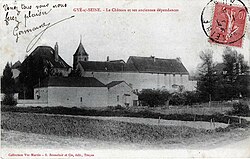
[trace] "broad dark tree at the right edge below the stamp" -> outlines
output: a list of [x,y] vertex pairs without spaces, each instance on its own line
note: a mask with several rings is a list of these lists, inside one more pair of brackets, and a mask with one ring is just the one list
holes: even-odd
[[227,47],[223,51],[223,85],[225,98],[238,98],[248,94],[248,82],[246,73],[249,69],[247,62],[244,61],[244,56],[236,50]]

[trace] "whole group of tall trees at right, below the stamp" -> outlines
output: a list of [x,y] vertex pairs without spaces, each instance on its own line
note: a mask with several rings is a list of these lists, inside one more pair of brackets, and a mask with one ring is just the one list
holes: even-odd
[[197,90],[203,101],[230,100],[249,97],[249,69],[244,56],[227,47],[222,55],[222,70],[216,69],[213,51],[201,52],[202,64],[199,67]]

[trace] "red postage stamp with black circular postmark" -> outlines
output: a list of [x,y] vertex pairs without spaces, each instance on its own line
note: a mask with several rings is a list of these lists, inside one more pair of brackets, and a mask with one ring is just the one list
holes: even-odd
[[241,47],[246,14],[244,7],[223,3],[215,4],[210,42]]

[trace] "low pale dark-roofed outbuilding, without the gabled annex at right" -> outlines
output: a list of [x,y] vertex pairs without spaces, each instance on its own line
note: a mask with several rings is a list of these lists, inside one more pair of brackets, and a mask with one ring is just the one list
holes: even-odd
[[34,88],[34,99],[48,106],[104,107],[108,89],[93,77],[50,77]]

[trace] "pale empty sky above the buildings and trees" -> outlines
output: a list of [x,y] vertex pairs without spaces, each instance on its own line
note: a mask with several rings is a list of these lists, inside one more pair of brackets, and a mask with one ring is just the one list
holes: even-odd
[[[243,0],[246,6],[249,1]],[[214,51],[214,60],[221,62],[221,55],[225,45],[208,42],[208,38],[201,27],[201,11],[208,0],[120,0],[120,1],[2,1],[0,10],[0,71],[7,62],[21,62],[25,55],[29,55],[37,46],[45,45],[54,47],[59,45],[59,55],[72,66],[73,54],[80,40],[89,54],[89,60],[104,61],[107,56],[110,60],[127,60],[129,56],[155,56],[157,58],[180,57],[189,72],[196,70],[201,62],[199,54],[201,51],[211,49]],[[17,6],[20,11],[6,10],[6,4]],[[47,5],[48,4],[48,5]],[[66,4],[66,7],[53,8],[53,5]],[[37,9],[39,5],[48,6]],[[25,6],[25,7],[24,7]],[[31,9],[28,9],[31,6]],[[61,5],[65,6],[65,5]],[[76,8],[100,8],[101,12],[75,12]],[[115,8],[116,11],[106,10]],[[178,9],[177,12],[118,12],[117,9]],[[51,10],[50,10],[51,9]],[[46,15],[26,18],[31,13],[48,12]],[[31,40],[43,29],[38,28],[27,34],[20,35],[16,42],[17,26],[15,20],[6,24],[6,13],[8,16],[16,17],[20,22],[18,30],[53,24],[64,18],[74,16],[63,22],[49,27],[42,34],[34,47],[26,52]],[[249,21],[247,21],[249,25]],[[249,61],[250,53],[250,31],[245,28],[246,36],[243,38],[241,48],[234,47]]]

